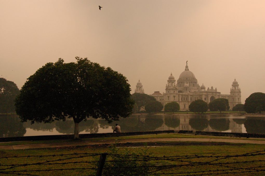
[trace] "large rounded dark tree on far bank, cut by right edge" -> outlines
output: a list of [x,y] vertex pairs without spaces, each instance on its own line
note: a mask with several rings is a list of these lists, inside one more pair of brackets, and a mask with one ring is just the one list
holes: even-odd
[[265,93],[255,92],[252,93],[245,101],[244,109],[247,113],[255,113],[257,107],[259,111],[265,111]]

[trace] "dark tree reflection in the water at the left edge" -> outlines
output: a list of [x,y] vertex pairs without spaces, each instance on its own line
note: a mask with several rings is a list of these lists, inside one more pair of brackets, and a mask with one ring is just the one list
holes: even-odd
[[0,137],[24,136],[25,133],[17,115],[0,115]]

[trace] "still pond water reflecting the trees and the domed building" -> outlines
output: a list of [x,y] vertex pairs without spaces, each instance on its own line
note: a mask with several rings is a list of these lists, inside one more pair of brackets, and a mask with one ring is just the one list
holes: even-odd
[[[149,130],[197,130],[211,132],[265,133],[265,118],[205,114],[141,114],[131,115],[108,124],[102,119],[89,119],[79,124],[80,134],[111,133],[118,123],[122,132]],[[50,124],[21,123],[17,115],[0,115],[0,137],[73,134],[74,122],[54,121]]]

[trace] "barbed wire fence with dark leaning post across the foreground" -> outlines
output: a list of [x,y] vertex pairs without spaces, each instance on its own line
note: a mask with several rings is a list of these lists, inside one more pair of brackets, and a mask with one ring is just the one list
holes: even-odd
[[[146,153],[145,153],[146,154]],[[72,153],[0,157],[0,175],[265,174],[265,150],[240,155]]]

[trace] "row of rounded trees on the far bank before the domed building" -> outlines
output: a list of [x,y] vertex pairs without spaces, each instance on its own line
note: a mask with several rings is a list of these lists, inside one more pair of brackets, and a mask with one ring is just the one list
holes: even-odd
[[[143,93],[134,93],[132,94],[132,98],[135,101],[134,104],[134,113],[146,111],[146,112],[161,112],[163,106],[160,102],[158,102],[154,97],[143,94]],[[189,111],[194,113],[204,113],[206,111],[227,111],[230,109],[229,102],[226,98],[217,98],[207,104],[203,100],[195,100],[190,103]],[[180,110],[179,103],[170,102],[164,106],[164,112],[178,112]],[[245,101],[245,104],[237,104],[232,108],[232,111],[246,111],[247,113],[261,113],[265,111],[265,94],[261,92],[256,92],[251,94]]]

